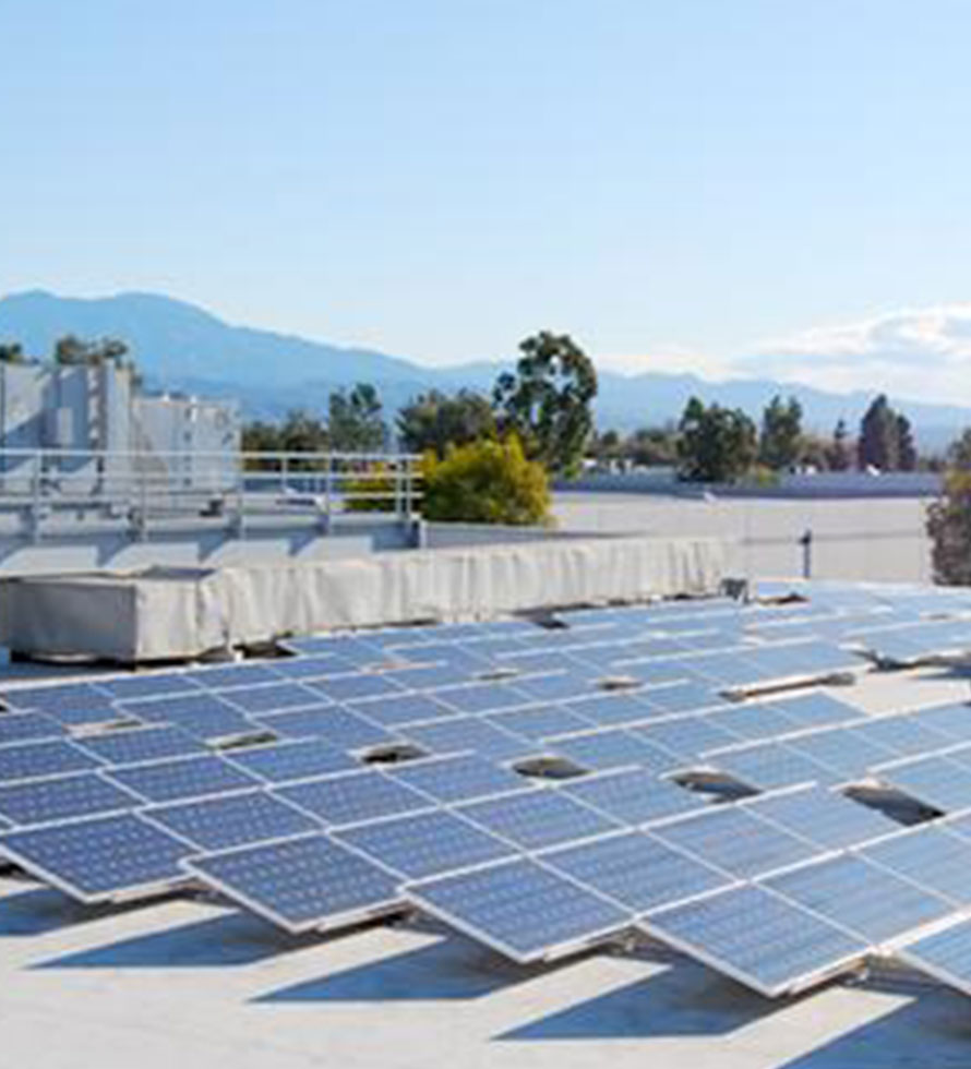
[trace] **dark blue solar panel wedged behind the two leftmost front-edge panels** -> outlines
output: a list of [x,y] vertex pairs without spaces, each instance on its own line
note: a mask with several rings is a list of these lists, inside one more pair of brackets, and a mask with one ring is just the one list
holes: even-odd
[[291,839],[320,825],[264,791],[145,809],[144,815],[204,851],[230,850],[271,839]]

